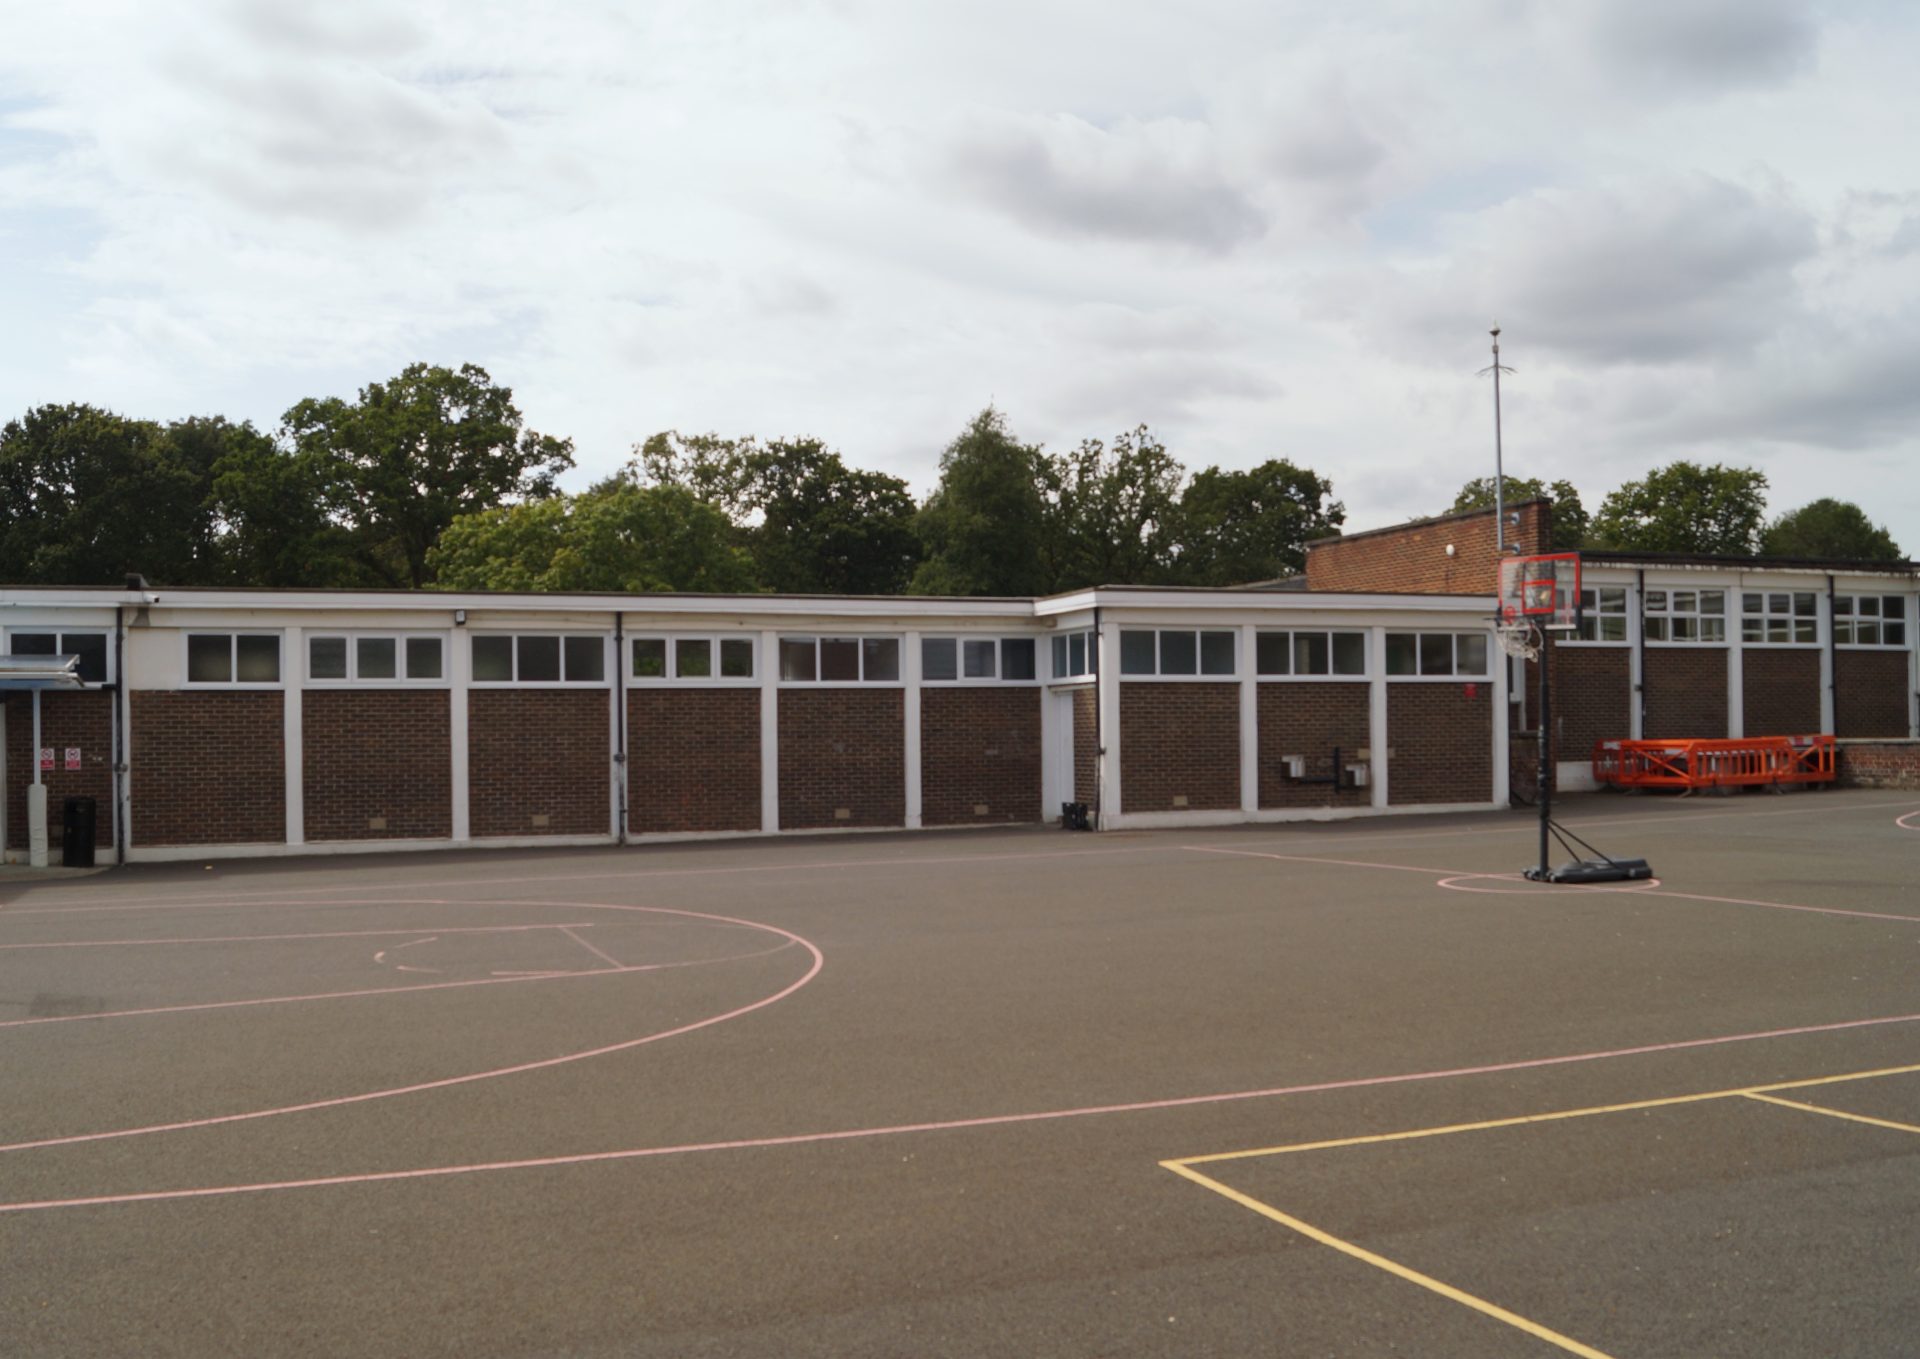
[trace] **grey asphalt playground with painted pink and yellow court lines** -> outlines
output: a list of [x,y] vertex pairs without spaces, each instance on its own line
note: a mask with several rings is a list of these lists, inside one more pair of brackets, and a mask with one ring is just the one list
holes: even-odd
[[1920,795],[0,885],[4,1355],[1901,1355]]

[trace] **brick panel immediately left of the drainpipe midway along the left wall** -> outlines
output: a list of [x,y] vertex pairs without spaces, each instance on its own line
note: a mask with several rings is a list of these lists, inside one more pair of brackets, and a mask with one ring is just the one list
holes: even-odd
[[[612,733],[607,689],[472,689],[467,818],[482,835],[607,835]],[[547,818],[545,825],[534,822]]]

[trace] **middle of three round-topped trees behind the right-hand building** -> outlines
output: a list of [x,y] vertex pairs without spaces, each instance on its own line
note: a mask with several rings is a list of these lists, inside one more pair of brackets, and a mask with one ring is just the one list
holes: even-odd
[[1594,516],[1596,547],[1747,557],[1766,516],[1766,474],[1749,466],[1668,463],[1609,493]]

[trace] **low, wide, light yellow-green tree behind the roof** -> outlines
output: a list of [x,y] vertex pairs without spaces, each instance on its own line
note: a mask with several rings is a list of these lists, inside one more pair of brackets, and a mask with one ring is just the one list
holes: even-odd
[[440,589],[747,593],[753,564],[716,507],[680,486],[611,480],[461,514],[428,553]]

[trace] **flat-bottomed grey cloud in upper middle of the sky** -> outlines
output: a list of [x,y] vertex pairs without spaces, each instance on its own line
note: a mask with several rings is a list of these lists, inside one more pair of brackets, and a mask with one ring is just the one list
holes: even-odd
[[977,125],[947,155],[968,194],[1052,236],[1104,236],[1225,253],[1265,230],[1217,167],[1204,123],[1077,117]]

